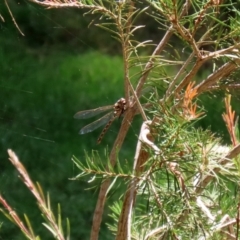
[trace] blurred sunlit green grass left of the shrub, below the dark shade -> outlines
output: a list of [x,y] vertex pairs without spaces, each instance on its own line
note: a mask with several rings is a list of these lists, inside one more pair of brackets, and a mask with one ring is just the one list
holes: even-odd
[[[93,120],[75,120],[73,115],[79,110],[113,104],[123,96],[121,59],[98,52],[80,55],[53,50],[45,55],[34,51],[26,54],[20,48],[11,54],[2,51],[0,64],[1,193],[20,215],[26,213],[32,219],[42,239],[51,239],[41,226],[43,220],[35,200],[7,160],[6,150],[11,148],[32,179],[49,191],[53,209],[61,204],[63,217],[71,222],[72,238],[87,239],[97,192],[85,191],[89,185],[84,179],[69,180],[78,173],[71,157],[74,154],[84,160],[84,150],[92,149],[104,153],[106,144],[111,147],[121,121],[116,121],[102,144],[96,145],[101,128],[79,135],[80,128]],[[127,143],[133,147],[134,134],[133,130]],[[131,148],[124,156],[127,158],[130,152]],[[1,215],[3,220],[3,239],[23,239]]]

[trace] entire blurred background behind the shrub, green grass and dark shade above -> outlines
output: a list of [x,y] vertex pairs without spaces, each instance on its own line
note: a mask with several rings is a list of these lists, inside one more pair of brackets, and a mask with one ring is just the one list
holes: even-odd
[[[104,156],[121,121],[114,122],[102,143],[96,145],[102,129],[78,135],[80,128],[94,119],[75,120],[73,115],[79,110],[113,104],[123,96],[122,60],[115,51],[119,46],[108,34],[87,28],[90,18],[83,18],[81,11],[46,11],[26,2],[9,3],[26,36],[19,35],[3,4],[0,5],[6,20],[0,29],[1,194],[20,216],[29,216],[42,239],[52,239],[41,224],[43,219],[35,199],[7,160],[6,150],[11,148],[33,181],[50,193],[55,212],[57,203],[61,204],[63,218],[68,217],[71,222],[72,239],[88,239],[98,192],[85,190],[92,186],[87,183],[89,179],[69,180],[78,174],[71,157],[75,155],[84,161],[85,150],[98,150]],[[151,34],[154,31],[146,36]],[[112,54],[103,54],[106,52]],[[210,97],[202,100],[209,115],[201,125],[212,125],[214,131],[226,137],[220,117],[223,101]],[[123,162],[131,164],[139,125],[140,117],[136,117],[121,152]],[[113,194],[110,201],[115,197]],[[109,220],[107,214],[108,211],[105,221]],[[0,222],[4,222],[0,239],[23,239],[3,215]],[[112,239],[104,224],[100,239]]]

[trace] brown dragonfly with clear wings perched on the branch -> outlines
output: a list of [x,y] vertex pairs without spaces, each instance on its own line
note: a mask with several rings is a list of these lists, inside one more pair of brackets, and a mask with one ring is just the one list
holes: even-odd
[[105,114],[103,117],[99,118],[98,120],[86,125],[83,127],[79,134],[85,134],[94,131],[95,129],[99,128],[100,126],[105,124],[100,136],[97,139],[97,143],[101,143],[102,138],[104,137],[105,133],[113,123],[116,118],[119,118],[124,114],[127,110],[127,101],[124,98],[120,98],[114,105],[103,106],[95,109],[85,110],[77,112],[74,115],[76,119],[87,119],[94,117],[100,113],[106,112],[108,110],[112,110],[109,113]]

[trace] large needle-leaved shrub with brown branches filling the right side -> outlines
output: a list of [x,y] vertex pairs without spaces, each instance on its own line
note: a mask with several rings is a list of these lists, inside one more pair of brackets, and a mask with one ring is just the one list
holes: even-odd
[[[126,105],[115,105],[114,117],[124,117],[118,136],[104,157],[97,152],[73,157],[80,170],[76,179],[89,175],[89,182],[101,183],[90,239],[99,237],[111,191],[118,200],[110,206],[114,224],[108,226],[117,240],[238,239],[240,144],[230,98],[223,119],[231,146],[196,123],[210,114],[204,113],[201,95],[240,87],[239,3],[29,1],[100,16],[96,26],[121,48]],[[141,22],[145,16],[154,24]],[[159,33],[158,41],[139,34],[149,27]],[[136,114],[142,127],[131,149],[134,158],[124,159],[123,144]]]

